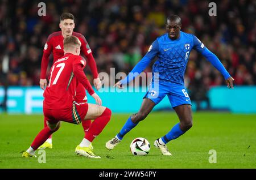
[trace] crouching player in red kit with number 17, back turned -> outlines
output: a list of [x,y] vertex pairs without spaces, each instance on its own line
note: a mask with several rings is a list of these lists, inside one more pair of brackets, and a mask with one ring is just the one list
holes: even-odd
[[[82,142],[77,145],[75,152],[89,158],[100,158],[90,147],[93,139],[100,134],[111,117],[111,111],[101,106],[101,99],[93,91],[84,74],[85,59],[80,54],[81,42],[75,36],[68,36],[64,40],[65,55],[51,68],[49,85],[44,91],[43,112],[47,126],[36,136],[30,148],[23,153],[23,157],[35,156],[36,149],[60,127],[60,121],[80,124],[86,119],[95,119]],[[80,83],[96,100],[97,104],[76,103],[75,94],[77,84]]]

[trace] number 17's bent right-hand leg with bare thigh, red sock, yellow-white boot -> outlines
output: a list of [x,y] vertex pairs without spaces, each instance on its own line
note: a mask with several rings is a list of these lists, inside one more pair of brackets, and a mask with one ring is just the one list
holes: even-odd
[[96,104],[88,104],[88,112],[85,115],[86,119],[95,119],[90,125],[88,132],[86,132],[82,142],[77,145],[75,152],[78,155],[89,157],[89,158],[101,158],[93,153],[93,149],[90,147],[94,138],[98,136],[104,127],[108,124],[111,117],[111,110],[103,106]]

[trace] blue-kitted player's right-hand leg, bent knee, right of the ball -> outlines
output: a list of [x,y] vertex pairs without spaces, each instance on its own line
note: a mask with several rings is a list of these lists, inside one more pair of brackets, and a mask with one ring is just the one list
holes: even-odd
[[184,104],[176,106],[174,109],[180,119],[180,122],[172,127],[170,132],[168,132],[162,138],[156,139],[154,142],[155,147],[160,149],[162,154],[166,156],[171,156],[166,144],[173,139],[179,138],[179,136],[183,135],[187,130],[189,130],[189,128],[192,127],[191,105]]

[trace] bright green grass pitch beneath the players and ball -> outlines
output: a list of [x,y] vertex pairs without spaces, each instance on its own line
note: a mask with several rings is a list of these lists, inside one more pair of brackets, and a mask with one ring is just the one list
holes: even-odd
[[[101,159],[75,155],[75,147],[84,137],[82,126],[62,122],[53,134],[53,149],[46,149],[46,163],[39,163],[38,158],[23,158],[21,152],[42,129],[43,115],[1,114],[0,168],[256,168],[256,115],[193,113],[193,127],[168,143],[173,156],[167,157],[153,143],[178,122],[175,113],[151,113],[115,149],[105,148],[106,141],[119,132],[129,115],[113,114],[94,140],[94,152]],[[130,153],[130,142],[137,137],[150,142],[147,156]],[[210,149],[217,153],[216,163],[209,163]]]

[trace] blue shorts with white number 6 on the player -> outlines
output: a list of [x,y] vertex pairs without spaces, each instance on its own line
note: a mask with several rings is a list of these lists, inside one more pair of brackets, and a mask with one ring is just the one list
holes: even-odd
[[169,98],[172,108],[183,104],[191,105],[187,89],[184,85],[168,82],[151,82],[150,87],[143,98],[149,98],[155,102],[155,105],[157,105],[164,97],[166,97],[166,95]]

